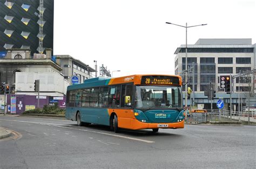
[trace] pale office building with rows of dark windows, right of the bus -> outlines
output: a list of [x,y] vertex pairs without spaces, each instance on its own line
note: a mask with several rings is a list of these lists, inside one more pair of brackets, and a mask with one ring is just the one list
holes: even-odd
[[[252,39],[199,39],[194,45],[187,45],[188,86],[192,88],[192,72],[190,68],[194,63],[194,91],[196,103],[209,103],[204,91],[208,90],[208,84],[212,82],[217,91],[218,98],[227,98],[229,95],[220,88],[221,75],[238,75],[255,69],[256,44]],[[185,82],[186,48],[181,45],[174,54],[175,74],[183,76]],[[253,78],[253,76],[252,76]],[[247,92],[252,90],[253,84],[248,83],[248,77],[236,78],[233,82],[234,99],[238,90]],[[250,82],[253,82],[253,80]],[[185,90],[185,87],[183,87]],[[216,100],[213,100],[215,103]],[[190,102],[190,100],[188,100]],[[235,103],[235,100],[234,102]]]

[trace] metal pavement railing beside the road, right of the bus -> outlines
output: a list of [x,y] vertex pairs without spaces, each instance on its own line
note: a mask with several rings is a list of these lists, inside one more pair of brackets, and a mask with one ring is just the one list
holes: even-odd
[[256,123],[256,112],[251,112],[248,118],[248,111],[228,111],[228,110],[207,110],[207,113],[187,113],[185,123],[198,124],[207,122],[224,121],[248,121]]

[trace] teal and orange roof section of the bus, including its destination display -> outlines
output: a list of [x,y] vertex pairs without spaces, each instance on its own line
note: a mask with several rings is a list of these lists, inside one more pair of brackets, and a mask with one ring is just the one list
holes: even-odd
[[[172,78],[172,79],[171,79]],[[175,79],[173,79],[175,78]],[[96,77],[84,80],[84,83],[75,84],[68,86],[68,90],[83,89],[86,87],[98,87],[106,85],[115,85],[115,84],[124,84],[124,83],[133,83],[134,85],[147,84],[146,79],[152,80],[156,85],[181,85],[181,77],[177,75],[131,75],[123,76],[117,78],[107,78],[107,77]],[[172,80],[176,82],[173,83]],[[178,81],[177,81],[178,80]],[[154,85],[152,84],[147,85]]]

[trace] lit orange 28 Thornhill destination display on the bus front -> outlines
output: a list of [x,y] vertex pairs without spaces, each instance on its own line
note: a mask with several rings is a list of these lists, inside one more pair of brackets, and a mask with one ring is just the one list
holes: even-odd
[[179,78],[172,76],[143,76],[141,84],[146,85],[179,85]]

